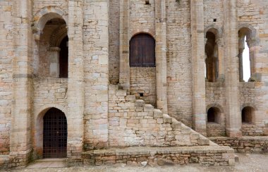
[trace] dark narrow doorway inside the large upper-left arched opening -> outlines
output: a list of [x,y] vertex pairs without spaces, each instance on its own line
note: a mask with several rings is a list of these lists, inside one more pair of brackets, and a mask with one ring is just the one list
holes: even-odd
[[68,37],[61,41],[59,53],[59,78],[68,78]]

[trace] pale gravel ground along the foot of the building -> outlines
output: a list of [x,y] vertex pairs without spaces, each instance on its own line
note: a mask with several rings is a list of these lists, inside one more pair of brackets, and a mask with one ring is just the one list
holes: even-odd
[[147,171],[147,172],[175,172],[175,171],[206,171],[206,172],[229,172],[229,171],[268,171],[268,154],[237,154],[239,162],[236,166],[200,166],[199,164],[175,165],[175,166],[126,166],[115,164],[109,166],[78,166],[71,168],[20,168],[11,171],[36,171],[36,172],[70,172],[70,171],[90,171],[90,172],[130,172],[130,171]]

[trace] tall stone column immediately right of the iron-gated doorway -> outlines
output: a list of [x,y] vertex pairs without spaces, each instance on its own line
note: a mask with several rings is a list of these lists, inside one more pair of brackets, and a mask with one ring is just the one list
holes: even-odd
[[68,2],[68,142],[69,159],[80,159],[84,135],[83,0]]

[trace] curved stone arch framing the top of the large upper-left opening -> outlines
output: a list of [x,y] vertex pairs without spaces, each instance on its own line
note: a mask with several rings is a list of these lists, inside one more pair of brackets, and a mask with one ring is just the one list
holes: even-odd
[[39,37],[42,34],[42,30],[44,29],[47,21],[53,18],[63,19],[66,25],[68,25],[68,13],[66,13],[66,11],[63,11],[63,9],[59,8],[58,6],[47,6],[35,13],[32,21],[32,31],[35,34],[36,40],[39,40]]

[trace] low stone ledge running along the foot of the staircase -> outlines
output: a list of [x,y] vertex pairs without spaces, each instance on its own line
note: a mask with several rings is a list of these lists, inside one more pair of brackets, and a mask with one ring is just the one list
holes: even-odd
[[169,164],[199,163],[206,166],[234,165],[234,150],[230,147],[126,147],[92,150],[83,153],[83,164],[141,164],[160,165],[159,159]]

